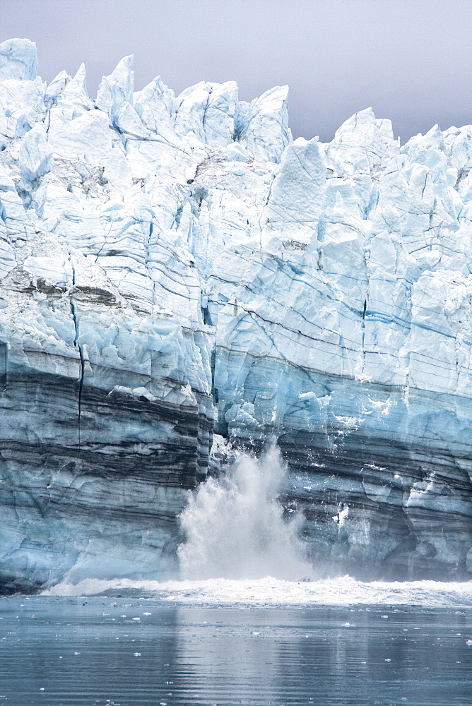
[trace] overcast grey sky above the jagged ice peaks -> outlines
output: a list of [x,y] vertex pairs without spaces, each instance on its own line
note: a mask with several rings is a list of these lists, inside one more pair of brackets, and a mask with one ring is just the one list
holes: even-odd
[[0,0],[0,41],[37,44],[40,75],[85,61],[90,95],[126,54],[135,88],[290,86],[294,136],[330,140],[372,106],[402,141],[472,123],[471,0]]

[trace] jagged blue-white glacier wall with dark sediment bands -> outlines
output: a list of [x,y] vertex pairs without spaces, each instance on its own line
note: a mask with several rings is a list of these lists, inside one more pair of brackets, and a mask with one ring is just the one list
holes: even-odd
[[169,575],[213,433],[276,439],[319,570],[472,578],[472,126],[132,66],[0,44],[0,592]]

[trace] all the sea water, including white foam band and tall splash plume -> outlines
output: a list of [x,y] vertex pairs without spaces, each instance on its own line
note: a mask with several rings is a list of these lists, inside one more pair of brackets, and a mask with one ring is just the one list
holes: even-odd
[[0,706],[471,706],[472,583],[314,580],[284,478],[200,486],[179,580],[0,599]]

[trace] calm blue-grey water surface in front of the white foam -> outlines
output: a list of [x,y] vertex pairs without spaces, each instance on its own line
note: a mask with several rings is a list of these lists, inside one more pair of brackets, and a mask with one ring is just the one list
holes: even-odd
[[0,599],[0,706],[471,706],[472,608]]

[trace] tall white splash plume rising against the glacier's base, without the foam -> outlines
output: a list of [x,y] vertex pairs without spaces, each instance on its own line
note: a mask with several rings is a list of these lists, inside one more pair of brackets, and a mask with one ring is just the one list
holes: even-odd
[[259,460],[238,454],[228,472],[208,478],[180,516],[184,579],[295,580],[312,575],[299,539],[302,517],[284,520],[278,493],[286,467],[275,446]]

